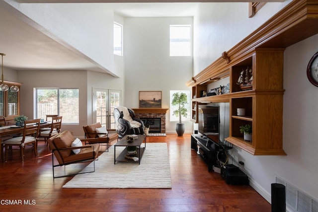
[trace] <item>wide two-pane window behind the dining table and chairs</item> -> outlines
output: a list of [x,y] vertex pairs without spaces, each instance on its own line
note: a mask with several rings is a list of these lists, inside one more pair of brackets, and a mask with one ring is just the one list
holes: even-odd
[[37,88],[36,118],[45,119],[52,114],[63,116],[63,123],[79,124],[79,89]]

